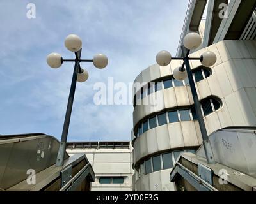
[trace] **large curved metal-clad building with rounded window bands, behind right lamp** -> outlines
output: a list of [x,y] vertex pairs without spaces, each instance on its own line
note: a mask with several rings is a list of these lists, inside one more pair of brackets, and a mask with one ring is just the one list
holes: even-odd
[[[200,57],[207,50],[217,55],[211,68],[191,61],[207,133],[256,126],[255,29],[252,32],[256,1],[209,1],[205,24],[201,24],[206,3],[189,2],[181,39],[191,31],[201,35],[204,31],[202,47],[190,57]],[[228,18],[216,19],[220,3],[228,3]],[[246,13],[241,15],[242,11]],[[181,56],[179,48],[177,56]],[[181,65],[182,61],[165,67],[154,64],[134,81],[134,191],[175,191],[170,171],[177,157],[180,152],[195,152],[202,144],[188,80],[173,78],[173,70]],[[159,103],[152,106],[148,101]]]

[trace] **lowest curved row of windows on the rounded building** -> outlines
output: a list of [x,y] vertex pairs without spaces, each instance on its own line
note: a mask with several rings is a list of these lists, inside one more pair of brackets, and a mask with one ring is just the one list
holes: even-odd
[[155,171],[173,168],[173,164],[177,161],[180,153],[183,152],[191,152],[195,154],[196,150],[179,150],[150,157],[150,159],[147,159],[140,164],[140,167],[137,170],[139,177]]

